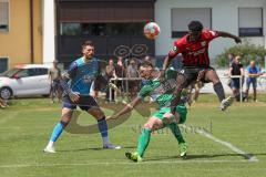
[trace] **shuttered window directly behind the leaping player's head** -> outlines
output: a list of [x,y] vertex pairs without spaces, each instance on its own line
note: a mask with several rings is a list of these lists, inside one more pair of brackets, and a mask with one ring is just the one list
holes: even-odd
[[187,33],[187,24],[198,20],[205,29],[212,29],[211,8],[174,8],[171,10],[172,38],[181,38]]

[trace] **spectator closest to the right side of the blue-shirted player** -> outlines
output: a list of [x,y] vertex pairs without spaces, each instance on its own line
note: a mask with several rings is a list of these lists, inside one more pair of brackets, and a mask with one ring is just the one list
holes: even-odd
[[[110,82],[111,79],[117,77],[115,74],[115,67],[113,63],[113,59],[109,60],[109,64],[105,67],[105,79]],[[105,101],[114,102],[114,90],[111,90],[111,100],[110,100],[110,90],[106,90]]]

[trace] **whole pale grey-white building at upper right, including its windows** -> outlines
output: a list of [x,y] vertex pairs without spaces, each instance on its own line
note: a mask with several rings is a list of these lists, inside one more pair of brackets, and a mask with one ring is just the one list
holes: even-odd
[[[174,40],[187,31],[191,20],[266,46],[266,0],[157,0],[154,11],[162,30],[155,43],[156,55],[165,55],[172,49]],[[234,44],[231,39],[214,40],[211,59]]]

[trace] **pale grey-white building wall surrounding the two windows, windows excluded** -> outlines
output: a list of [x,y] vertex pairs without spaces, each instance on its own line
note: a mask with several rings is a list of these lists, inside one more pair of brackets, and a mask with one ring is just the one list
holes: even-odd
[[[172,49],[176,39],[171,38],[171,9],[172,8],[212,8],[213,30],[226,31],[238,35],[238,8],[263,8],[263,29],[266,34],[266,1],[265,0],[157,0],[155,2],[155,20],[162,33],[155,41],[156,55],[165,55]],[[167,20],[166,20],[167,19]],[[265,46],[264,37],[247,38],[256,44]],[[231,39],[217,39],[211,43],[209,56],[222,53],[224,49],[234,45]]]

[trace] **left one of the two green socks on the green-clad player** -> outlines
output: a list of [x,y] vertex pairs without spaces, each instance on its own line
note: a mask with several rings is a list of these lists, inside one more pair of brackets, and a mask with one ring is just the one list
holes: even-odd
[[149,145],[149,142],[150,142],[150,138],[151,138],[151,133],[152,133],[151,129],[143,128],[142,134],[139,137],[139,144],[137,144],[136,152],[141,157],[143,157],[144,152],[145,152],[145,149]]

